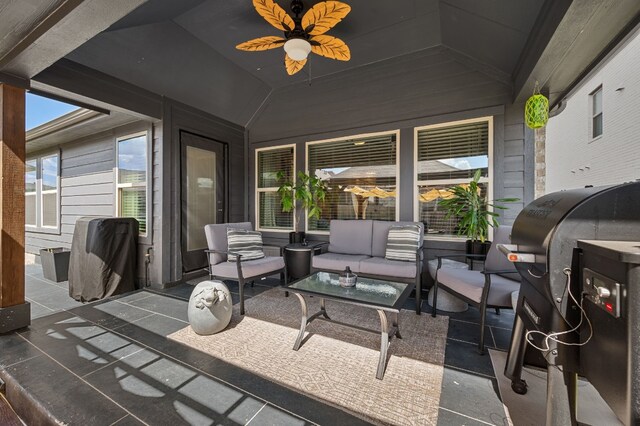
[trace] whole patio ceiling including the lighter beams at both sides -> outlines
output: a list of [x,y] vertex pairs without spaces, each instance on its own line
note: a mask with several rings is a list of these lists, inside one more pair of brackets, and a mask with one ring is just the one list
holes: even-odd
[[[348,78],[375,90],[358,75],[420,79],[402,67],[415,58],[426,66],[433,56],[435,64],[454,60],[482,73],[512,100],[540,80],[554,101],[640,16],[640,2],[626,0],[343,1],[352,11],[330,34],[349,45],[351,60],[311,55],[289,76],[282,49],[235,48],[281,35],[250,0],[7,0],[0,5],[0,81],[38,81],[65,59],[248,126],[292,88],[330,88]],[[288,0],[277,2],[289,9]],[[304,1],[306,8],[315,3]]]

